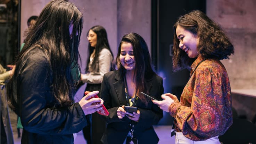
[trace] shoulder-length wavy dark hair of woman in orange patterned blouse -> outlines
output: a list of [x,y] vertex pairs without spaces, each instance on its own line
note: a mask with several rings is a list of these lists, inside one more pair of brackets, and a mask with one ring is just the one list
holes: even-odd
[[190,69],[195,58],[179,48],[176,28],[180,25],[192,34],[199,36],[198,51],[204,58],[228,59],[234,53],[234,47],[220,25],[199,10],[193,10],[181,16],[174,24],[173,38],[173,70]]

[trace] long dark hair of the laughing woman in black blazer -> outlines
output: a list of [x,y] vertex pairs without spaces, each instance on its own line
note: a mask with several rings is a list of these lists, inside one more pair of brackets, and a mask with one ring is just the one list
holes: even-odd
[[123,67],[119,59],[119,56],[121,54],[121,46],[123,43],[132,44],[135,60],[133,81],[135,81],[136,94],[138,94],[139,98],[147,104],[147,99],[140,92],[148,92],[148,90],[145,90],[144,82],[147,79],[152,78],[152,76],[156,75],[152,67],[152,62],[148,51],[147,43],[137,33],[126,34],[122,37],[122,40],[118,46],[118,52],[116,56],[117,70],[120,72],[122,76],[124,76],[126,72],[126,69]]

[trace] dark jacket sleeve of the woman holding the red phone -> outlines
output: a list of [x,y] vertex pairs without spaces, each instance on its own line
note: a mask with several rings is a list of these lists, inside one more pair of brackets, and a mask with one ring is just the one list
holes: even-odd
[[77,133],[87,124],[84,112],[78,103],[62,109],[49,107],[55,102],[49,71],[42,53],[31,54],[20,69],[17,96],[22,125],[31,133]]

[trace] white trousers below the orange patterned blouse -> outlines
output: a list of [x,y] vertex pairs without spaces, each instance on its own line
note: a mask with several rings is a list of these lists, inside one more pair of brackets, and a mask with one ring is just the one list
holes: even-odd
[[221,144],[218,136],[206,139],[205,141],[192,141],[181,132],[175,132],[175,144]]

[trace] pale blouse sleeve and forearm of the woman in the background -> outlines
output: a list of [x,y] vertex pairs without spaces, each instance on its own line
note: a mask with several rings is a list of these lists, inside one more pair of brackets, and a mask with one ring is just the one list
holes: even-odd
[[85,82],[89,84],[100,84],[103,79],[103,75],[110,71],[112,54],[107,49],[102,49],[99,55],[98,68],[99,71],[92,71],[88,74],[85,74]]

